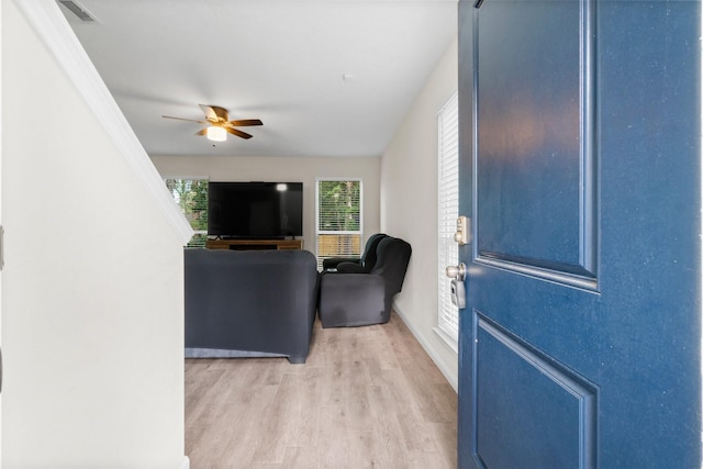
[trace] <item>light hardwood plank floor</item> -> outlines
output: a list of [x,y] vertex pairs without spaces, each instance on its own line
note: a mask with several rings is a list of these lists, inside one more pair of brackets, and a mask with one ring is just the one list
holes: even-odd
[[457,394],[403,322],[323,330],[308,361],[186,360],[203,468],[456,468]]

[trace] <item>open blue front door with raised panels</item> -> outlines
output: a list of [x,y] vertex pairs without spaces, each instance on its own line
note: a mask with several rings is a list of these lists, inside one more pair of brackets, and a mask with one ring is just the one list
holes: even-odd
[[701,467],[700,9],[460,1],[461,468]]

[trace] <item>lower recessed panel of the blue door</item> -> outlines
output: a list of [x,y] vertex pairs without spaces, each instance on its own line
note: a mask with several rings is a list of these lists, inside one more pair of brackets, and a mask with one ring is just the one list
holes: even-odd
[[486,467],[592,467],[596,389],[478,312],[475,327],[477,459]]

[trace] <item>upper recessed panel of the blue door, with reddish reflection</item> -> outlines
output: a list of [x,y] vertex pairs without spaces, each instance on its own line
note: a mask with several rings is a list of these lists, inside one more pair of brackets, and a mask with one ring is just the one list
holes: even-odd
[[580,104],[590,67],[581,72],[581,10],[568,1],[486,2],[481,9],[475,63],[479,256],[557,270],[583,267]]

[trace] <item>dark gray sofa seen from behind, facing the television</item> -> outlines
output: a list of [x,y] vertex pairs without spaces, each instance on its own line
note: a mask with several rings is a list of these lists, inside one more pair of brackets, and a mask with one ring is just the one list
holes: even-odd
[[306,250],[186,249],[186,357],[305,362],[317,269]]

